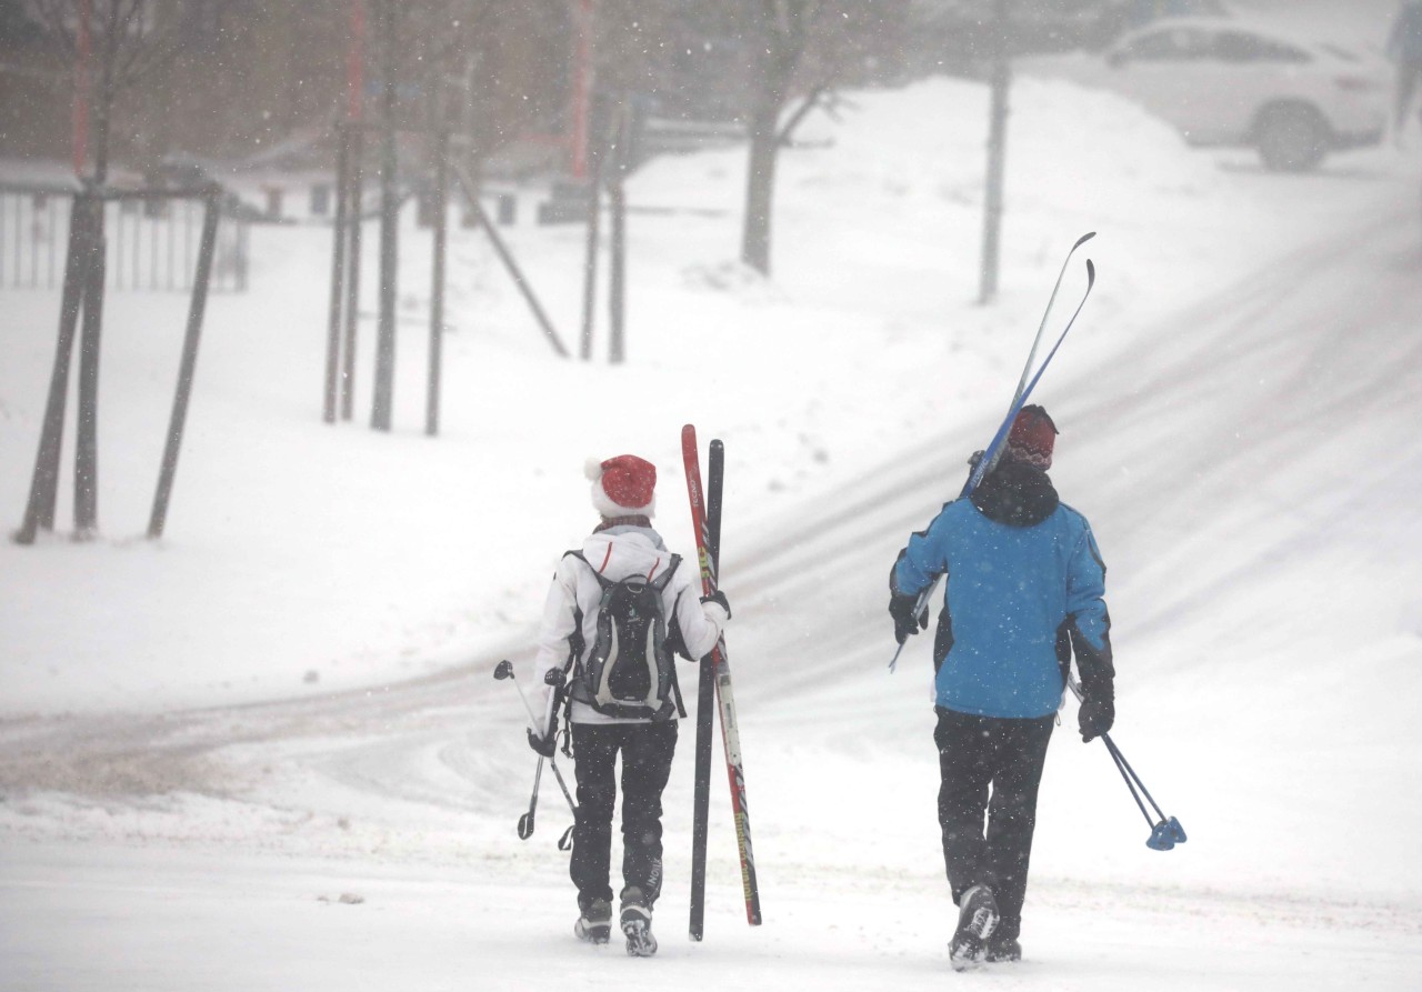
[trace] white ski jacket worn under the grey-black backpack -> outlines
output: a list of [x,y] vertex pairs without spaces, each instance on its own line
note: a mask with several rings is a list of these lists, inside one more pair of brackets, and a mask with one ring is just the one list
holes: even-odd
[[[533,659],[533,678],[543,686],[543,706],[540,713],[547,721],[547,706],[552,689],[543,679],[547,672],[562,669],[567,664],[570,637],[577,624],[577,611],[583,617],[583,657],[592,651],[597,640],[597,604],[603,590],[593,577],[592,568],[597,568],[606,578],[619,581],[627,576],[643,574],[648,580],[657,578],[671,566],[671,551],[651,527],[636,524],[620,524],[600,530],[583,541],[580,549],[587,564],[572,556],[565,556],[557,563],[557,573],[553,576],[553,587],[547,593],[547,603],[543,605],[543,624],[539,628],[538,655]],[[589,568],[592,566],[592,568]],[[729,617],[718,603],[701,603],[701,587],[698,583],[695,559],[683,560],[677,566],[675,574],[663,591],[663,611],[667,622],[675,618],[681,628],[681,640],[687,647],[687,654],[695,659],[711,652],[721,638],[721,630]],[[592,706],[573,702],[572,719],[574,723],[644,723],[644,719],[619,719],[599,713]],[[675,719],[675,713],[673,713]],[[547,728],[538,728],[545,735]]]

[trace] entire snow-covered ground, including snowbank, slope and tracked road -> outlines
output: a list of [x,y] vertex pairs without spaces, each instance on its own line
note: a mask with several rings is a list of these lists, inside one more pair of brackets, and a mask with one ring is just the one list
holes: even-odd
[[[1068,708],[1028,959],[961,981],[1415,988],[1422,163],[1376,149],[1264,175],[1118,98],[1022,81],[1003,294],[977,307],[984,115],[980,87],[930,81],[806,129],[833,141],[782,159],[769,281],[732,262],[742,152],[648,166],[617,368],[556,358],[459,232],[438,439],[419,236],[385,435],[365,426],[373,318],[357,421],[320,421],[328,237],[257,230],[252,290],[209,303],[158,544],[141,534],[185,301],[112,296],[102,537],[0,546],[0,988],[957,981],[929,649],[884,672],[883,578],[1001,416],[1086,230],[1098,286],[1039,398],[1062,426],[1054,479],[1111,564],[1115,736],[1190,841],[1143,846]],[[576,347],[582,232],[508,237]],[[1064,298],[1081,290],[1078,267]],[[57,300],[0,301],[0,513],[18,523]],[[593,523],[587,455],[654,459],[660,524],[690,546],[683,422],[727,442],[766,922],[742,922],[718,782],[708,935],[681,939],[688,725],[663,952],[630,962],[569,934],[552,783],[539,833],[513,836],[532,762],[489,675],[526,662],[549,570]]]

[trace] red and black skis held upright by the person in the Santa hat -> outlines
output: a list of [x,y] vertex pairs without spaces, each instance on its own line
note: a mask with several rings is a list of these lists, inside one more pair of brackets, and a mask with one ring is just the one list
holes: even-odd
[[[707,487],[701,487],[701,458],[697,429],[681,428],[681,459],[691,500],[691,526],[697,536],[697,561],[701,566],[701,591],[717,591],[721,563],[721,487],[725,478],[725,446],[711,442]],[[741,732],[735,719],[735,695],[731,691],[731,665],[727,661],[725,635],[701,659],[697,691],[697,769],[691,826],[691,939],[700,941],[705,922],[707,831],[711,807],[711,711],[721,713],[721,742],[725,745],[725,770],[731,782],[731,814],[735,819],[735,843],[741,856],[741,885],[745,894],[745,918],[761,924],[761,893],[751,848],[751,817],[745,803],[745,766],[741,762]]]

